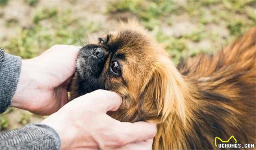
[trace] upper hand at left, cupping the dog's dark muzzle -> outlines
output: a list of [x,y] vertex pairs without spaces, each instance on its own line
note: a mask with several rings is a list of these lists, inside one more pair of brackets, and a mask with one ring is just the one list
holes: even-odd
[[11,106],[49,115],[68,101],[67,86],[75,71],[79,47],[54,45],[40,56],[22,60]]

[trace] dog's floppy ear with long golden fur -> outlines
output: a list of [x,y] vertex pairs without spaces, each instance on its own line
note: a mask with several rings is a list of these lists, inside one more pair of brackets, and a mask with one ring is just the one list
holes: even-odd
[[146,103],[153,102],[158,111],[158,116],[161,116],[161,120],[157,122],[163,122],[170,113],[175,113],[180,120],[184,121],[186,84],[182,75],[170,60],[162,59],[161,61],[155,66],[144,89],[143,95],[146,97],[146,99],[143,99],[144,110],[145,107],[150,109],[150,105]]

